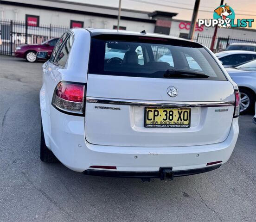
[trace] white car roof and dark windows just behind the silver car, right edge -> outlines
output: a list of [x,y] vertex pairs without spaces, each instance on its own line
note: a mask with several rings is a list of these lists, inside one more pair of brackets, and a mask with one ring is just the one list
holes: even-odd
[[230,50],[215,53],[215,56],[219,59],[224,67],[231,67],[256,59],[256,52]]

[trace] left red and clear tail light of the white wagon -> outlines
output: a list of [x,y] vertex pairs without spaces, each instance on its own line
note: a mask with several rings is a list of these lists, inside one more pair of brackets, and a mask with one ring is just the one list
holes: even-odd
[[60,111],[83,114],[85,85],[61,81],[56,86],[52,105]]

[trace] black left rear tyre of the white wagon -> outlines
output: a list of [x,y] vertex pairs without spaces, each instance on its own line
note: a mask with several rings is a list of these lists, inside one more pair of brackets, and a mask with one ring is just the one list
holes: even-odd
[[44,130],[41,123],[40,160],[46,163],[57,163],[59,160],[45,144]]

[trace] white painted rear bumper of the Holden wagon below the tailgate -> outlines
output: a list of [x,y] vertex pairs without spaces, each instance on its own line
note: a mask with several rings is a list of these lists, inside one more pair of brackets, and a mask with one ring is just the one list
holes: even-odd
[[[42,108],[42,98],[40,104]],[[172,167],[175,176],[195,174],[198,169],[201,171],[204,168],[208,171],[213,166],[207,166],[207,163],[219,160],[225,163],[230,158],[239,133],[238,118],[234,118],[226,140],[215,144],[178,147],[102,146],[85,140],[84,117],[67,115],[54,107],[50,109],[51,118],[46,111],[41,110],[47,147],[65,166],[89,175],[105,174],[106,171],[90,166],[116,166],[116,170],[107,170],[111,176],[120,175],[118,172],[132,172],[135,175],[136,172],[153,172],[157,176],[160,167]],[[204,170],[199,173],[206,172]],[[128,174],[124,173],[126,177]]]

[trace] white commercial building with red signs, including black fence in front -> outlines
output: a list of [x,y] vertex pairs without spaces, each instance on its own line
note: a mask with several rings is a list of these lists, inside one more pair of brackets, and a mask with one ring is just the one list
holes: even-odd
[[[177,14],[122,9],[120,29],[187,38],[191,22],[175,19]],[[8,49],[12,55],[18,44],[41,43],[75,27],[116,29],[117,17],[116,7],[63,0],[0,0],[0,39],[5,43],[0,51]],[[214,28],[196,26],[193,40],[210,48],[213,33]],[[218,28],[212,50],[223,50],[234,42],[256,43],[255,34],[254,29]]]

